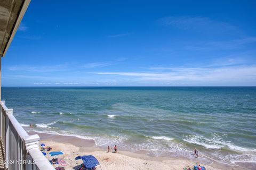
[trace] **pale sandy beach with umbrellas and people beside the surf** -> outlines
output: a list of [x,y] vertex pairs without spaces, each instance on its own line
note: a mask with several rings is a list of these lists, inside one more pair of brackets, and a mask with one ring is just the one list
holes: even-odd
[[[191,158],[170,158],[170,157],[151,157],[143,153],[134,153],[124,150],[118,150],[117,154],[107,152],[102,148],[95,147],[93,140],[84,140],[76,137],[68,137],[64,135],[35,133],[41,138],[41,143],[52,147],[52,151],[63,151],[64,155],[57,156],[63,158],[67,162],[66,169],[77,169],[82,163],[82,160],[75,160],[75,157],[83,155],[95,156],[102,167],[102,169],[183,169],[184,167],[201,164],[206,169],[246,169],[241,166],[231,166],[226,164],[219,164],[216,162],[204,164],[204,159]],[[52,157],[47,154],[47,159]],[[55,165],[55,167],[57,167]],[[98,167],[98,169],[100,169]]]

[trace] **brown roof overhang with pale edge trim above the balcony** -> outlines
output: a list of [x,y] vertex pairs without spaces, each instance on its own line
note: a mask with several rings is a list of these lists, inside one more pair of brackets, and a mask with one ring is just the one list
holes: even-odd
[[0,1],[0,56],[4,56],[19,28],[30,0]]

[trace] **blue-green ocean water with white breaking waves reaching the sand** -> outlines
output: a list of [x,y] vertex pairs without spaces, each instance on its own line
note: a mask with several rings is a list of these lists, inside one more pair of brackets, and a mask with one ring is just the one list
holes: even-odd
[[28,131],[154,156],[191,157],[197,147],[219,162],[256,162],[255,87],[4,87],[2,98]]

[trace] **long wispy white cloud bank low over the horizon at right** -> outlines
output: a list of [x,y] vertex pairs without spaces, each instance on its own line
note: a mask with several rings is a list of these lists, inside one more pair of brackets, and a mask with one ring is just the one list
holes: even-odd
[[[256,65],[218,68],[151,67],[155,72],[99,72],[95,74],[137,77],[140,81],[195,84],[198,86],[255,86]],[[159,70],[167,72],[159,72]]]

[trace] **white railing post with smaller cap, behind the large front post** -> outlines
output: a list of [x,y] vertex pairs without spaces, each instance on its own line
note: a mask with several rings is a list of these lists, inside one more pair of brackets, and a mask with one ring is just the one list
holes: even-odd
[[[9,162],[9,134],[10,134],[10,128],[9,128],[9,118],[7,115],[13,114],[13,109],[6,109],[6,117],[5,117],[5,161],[6,163]],[[6,164],[5,168],[8,168],[8,164]]]

